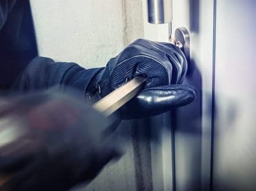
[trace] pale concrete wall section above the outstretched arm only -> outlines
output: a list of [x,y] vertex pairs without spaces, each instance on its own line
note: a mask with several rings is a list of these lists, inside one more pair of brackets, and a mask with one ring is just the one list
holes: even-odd
[[41,56],[99,67],[143,37],[136,0],[30,0]]

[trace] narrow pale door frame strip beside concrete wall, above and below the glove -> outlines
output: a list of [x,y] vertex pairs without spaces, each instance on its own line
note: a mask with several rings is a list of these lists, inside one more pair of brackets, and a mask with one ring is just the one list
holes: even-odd
[[[148,23],[147,1],[143,0],[145,38],[169,41],[169,25]],[[150,118],[152,190],[172,190],[172,131],[169,113]]]

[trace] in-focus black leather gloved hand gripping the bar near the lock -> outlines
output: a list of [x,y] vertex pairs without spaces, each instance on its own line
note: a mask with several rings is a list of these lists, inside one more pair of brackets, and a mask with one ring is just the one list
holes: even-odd
[[99,100],[135,76],[144,76],[145,89],[119,113],[122,118],[158,115],[194,100],[194,87],[178,85],[183,82],[186,73],[187,61],[178,47],[170,43],[137,39],[95,76],[89,91],[92,87],[98,87]]

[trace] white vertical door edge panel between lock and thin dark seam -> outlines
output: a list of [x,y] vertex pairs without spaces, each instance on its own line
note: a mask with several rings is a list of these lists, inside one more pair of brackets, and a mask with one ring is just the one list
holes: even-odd
[[191,34],[191,64],[185,84],[198,89],[196,101],[177,109],[174,116],[176,190],[210,189],[213,7],[209,0],[173,1],[173,28],[183,26]]

